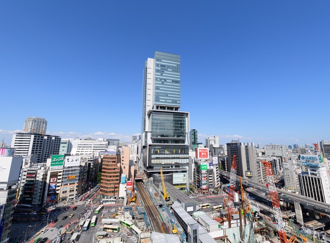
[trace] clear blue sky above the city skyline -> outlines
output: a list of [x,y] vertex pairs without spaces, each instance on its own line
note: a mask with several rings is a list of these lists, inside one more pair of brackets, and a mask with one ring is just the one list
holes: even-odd
[[130,141],[144,62],[181,55],[181,110],[199,142],[330,140],[329,1],[0,1],[0,139]]

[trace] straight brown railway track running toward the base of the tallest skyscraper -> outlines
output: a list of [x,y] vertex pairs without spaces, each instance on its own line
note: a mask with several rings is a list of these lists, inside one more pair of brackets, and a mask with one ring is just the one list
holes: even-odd
[[151,229],[153,231],[164,233],[162,227],[162,220],[159,216],[159,212],[155,205],[153,205],[149,195],[147,194],[146,190],[144,189],[142,182],[137,182],[137,188],[140,194],[141,199],[143,200],[145,210],[147,212]]

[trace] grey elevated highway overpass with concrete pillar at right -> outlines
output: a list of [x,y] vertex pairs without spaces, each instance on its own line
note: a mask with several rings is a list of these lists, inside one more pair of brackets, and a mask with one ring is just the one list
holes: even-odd
[[[223,171],[223,170],[219,170],[219,174],[222,176],[225,176],[227,178],[229,178],[230,173]],[[244,178],[244,180],[246,180]],[[239,179],[236,179],[236,182],[240,183]],[[265,190],[265,191],[269,191],[268,187],[263,185],[263,184],[259,184],[253,181],[248,181],[247,183],[242,182],[244,185],[248,185],[261,189],[261,190]],[[312,210],[312,211],[317,211],[323,214],[328,214],[330,215],[330,204],[325,204],[325,203],[321,203],[320,201],[314,200],[313,198],[310,197],[305,197],[301,194],[295,194],[292,192],[288,192],[282,189],[277,188],[277,192],[282,194],[282,198],[284,200],[289,199],[292,201],[292,203],[294,204],[294,209],[295,209],[295,213],[296,213],[296,218],[297,218],[297,222],[303,224],[303,213],[301,210],[301,205],[304,206],[304,208]]]

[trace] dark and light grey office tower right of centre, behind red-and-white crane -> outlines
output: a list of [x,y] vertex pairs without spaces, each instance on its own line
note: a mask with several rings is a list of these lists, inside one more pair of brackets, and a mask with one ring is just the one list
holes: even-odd
[[254,181],[259,180],[257,177],[260,174],[261,168],[257,163],[254,143],[244,144],[239,141],[227,143],[227,155],[228,172],[230,172],[233,157],[236,155],[237,176],[249,178]]

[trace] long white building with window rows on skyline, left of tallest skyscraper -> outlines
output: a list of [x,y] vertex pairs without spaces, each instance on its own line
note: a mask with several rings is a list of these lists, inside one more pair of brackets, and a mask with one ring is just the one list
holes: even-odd
[[104,138],[98,138],[97,140],[92,139],[74,139],[71,141],[73,155],[84,155],[84,154],[95,154],[98,155],[100,152],[105,152],[108,146],[108,141]]

